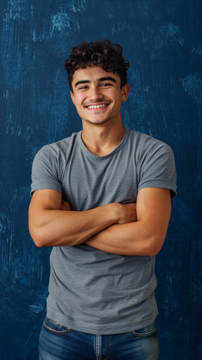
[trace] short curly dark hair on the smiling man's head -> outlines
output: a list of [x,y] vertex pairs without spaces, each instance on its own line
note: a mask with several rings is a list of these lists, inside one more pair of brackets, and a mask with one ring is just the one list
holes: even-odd
[[129,61],[122,56],[123,49],[118,44],[111,44],[110,40],[95,42],[82,41],[71,49],[71,55],[63,63],[67,73],[70,90],[73,92],[72,79],[74,72],[87,66],[101,66],[107,72],[120,76],[120,88],[127,84]]

